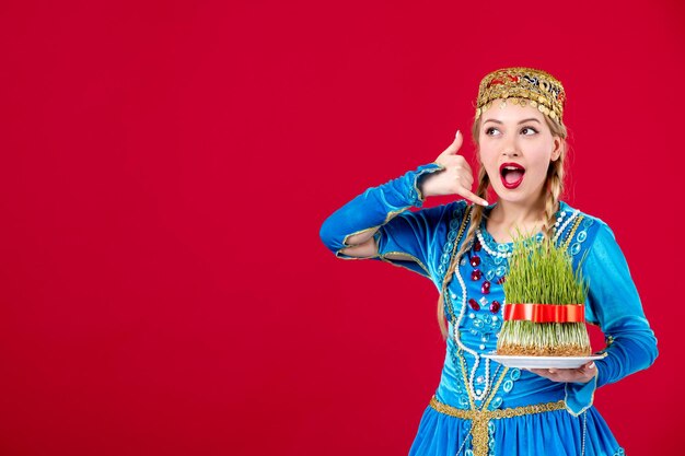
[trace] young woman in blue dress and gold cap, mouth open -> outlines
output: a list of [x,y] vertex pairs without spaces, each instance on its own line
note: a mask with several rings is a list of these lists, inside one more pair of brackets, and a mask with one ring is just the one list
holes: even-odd
[[[336,256],[403,266],[441,290],[438,318],[448,356],[410,455],[624,454],[592,406],[594,391],[650,366],[657,339],[611,229],[559,200],[565,100],[561,83],[544,71],[487,74],[473,125],[476,194],[457,131],[433,163],[369,188],[321,229]],[[492,204],[490,188],[498,197]],[[472,203],[408,210],[438,195]],[[520,370],[483,356],[496,350],[502,325],[514,233],[568,249],[589,280],[585,320],[604,331],[605,358],[579,369]]]

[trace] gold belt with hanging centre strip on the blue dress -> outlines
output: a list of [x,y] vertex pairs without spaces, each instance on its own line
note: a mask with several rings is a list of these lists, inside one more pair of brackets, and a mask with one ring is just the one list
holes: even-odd
[[471,435],[473,439],[474,456],[488,455],[488,423],[490,420],[523,417],[524,414],[543,413],[546,411],[566,409],[564,400],[558,400],[556,402],[534,404],[532,406],[513,407],[509,409],[462,410],[440,402],[436,399],[436,396],[430,399],[430,406],[440,413],[473,421],[471,425]]

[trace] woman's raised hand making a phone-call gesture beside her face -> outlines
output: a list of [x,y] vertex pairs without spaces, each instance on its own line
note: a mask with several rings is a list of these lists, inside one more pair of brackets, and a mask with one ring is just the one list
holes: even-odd
[[461,131],[456,132],[454,142],[442,152],[436,163],[444,166],[444,169],[432,173],[421,184],[423,197],[440,195],[458,195],[477,204],[488,206],[488,202],[478,198],[471,191],[474,185],[474,174],[466,159],[458,154],[464,142]]

